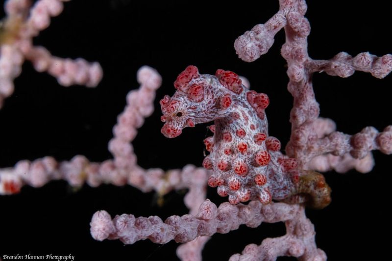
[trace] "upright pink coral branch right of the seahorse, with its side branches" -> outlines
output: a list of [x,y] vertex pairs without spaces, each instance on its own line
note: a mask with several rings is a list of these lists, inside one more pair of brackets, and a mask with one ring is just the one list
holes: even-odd
[[[313,91],[312,75],[314,72],[324,71],[329,75],[345,78],[358,70],[370,72],[376,78],[384,78],[392,70],[392,55],[377,57],[363,52],[351,57],[341,52],[330,60],[313,60],[307,52],[310,26],[304,17],[305,1],[280,0],[279,2],[278,13],[284,14],[286,19],[284,27],[286,43],[282,46],[281,54],[288,63],[287,74],[290,79],[288,90],[294,97],[294,107],[290,114],[292,133],[286,146],[287,154],[296,158],[299,166],[305,169],[337,168],[346,171],[357,168],[361,172],[370,171],[373,166],[372,157],[367,156],[370,151],[380,150],[386,154],[392,152],[391,127],[387,127],[381,133],[372,127],[367,127],[355,135],[332,131],[328,131],[327,136],[318,135],[319,104]],[[271,18],[271,20],[275,19],[275,17]],[[265,26],[256,25],[236,40],[234,47],[244,61],[254,61],[264,53],[262,50],[266,44],[263,41],[273,42],[270,34],[257,30]],[[251,51],[249,46],[257,46],[258,55],[253,55],[255,51]],[[340,157],[333,157],[328,153]],[[346,153],[350,153],[352,157],[345,155]]]

